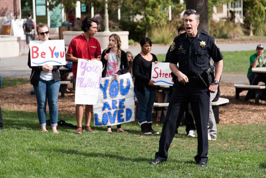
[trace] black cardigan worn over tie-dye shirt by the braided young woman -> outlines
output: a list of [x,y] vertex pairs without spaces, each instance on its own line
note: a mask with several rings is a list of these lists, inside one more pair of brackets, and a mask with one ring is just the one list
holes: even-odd
[[[102,57],[101,57],[101,61],[103,63],[103,72],[102,72],[102,77],[106,76],[106,65],[107,65],[107,60],[104,59],[104,56],[106,53],[109,53],[111,50],[111,48],[107,49],[106,51],[103,50],[102,53]],[[121,55],[120,55],[120,67],[119,70],[116,72],[116,74],[118,74],[119,76],[125,73],[128,73],[129,71],[129,66],[128,66],[128,61],[127,61],[127,57],[126,57],[126,52],[124,52],[123,50],[121,50]],[[124,66],[124,68],[123,68]]]

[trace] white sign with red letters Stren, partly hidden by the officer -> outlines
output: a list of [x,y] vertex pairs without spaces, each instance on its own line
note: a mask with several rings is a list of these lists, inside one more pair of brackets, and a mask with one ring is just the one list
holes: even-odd
[[155,81],[155,85],[173,85],[169,62],[153,62],[151,79]]

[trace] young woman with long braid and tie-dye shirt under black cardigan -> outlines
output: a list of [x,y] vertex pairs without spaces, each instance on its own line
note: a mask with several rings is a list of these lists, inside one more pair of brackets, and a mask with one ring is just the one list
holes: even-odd
[[[109,36],[109,44],[103,50],[101,61],[103,63],[102,77],[114,76],[117,80],[119,75],[129,71],[126,53],[121,50],[121,39],[117,34]],[[112,132],[111,126],[107,127],[107,132]],[[121,128],[121,124],[117,125],[117,132],[127,133]]]

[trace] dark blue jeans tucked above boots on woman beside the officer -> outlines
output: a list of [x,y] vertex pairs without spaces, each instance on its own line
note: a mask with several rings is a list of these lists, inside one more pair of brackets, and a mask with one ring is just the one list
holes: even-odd
[[145,96],[141,92],[135,90],[139,104],[138,120],[140,125],[145,122],[152,122],[153,103],[156,97],[156,89],[148,89],[146,86],[144,87]]

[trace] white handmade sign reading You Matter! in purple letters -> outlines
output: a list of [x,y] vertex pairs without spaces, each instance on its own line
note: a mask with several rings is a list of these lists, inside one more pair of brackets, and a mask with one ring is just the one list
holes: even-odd
[[75,104],[97,103],[103,64],[98,60],[79,59],[77,66]]

